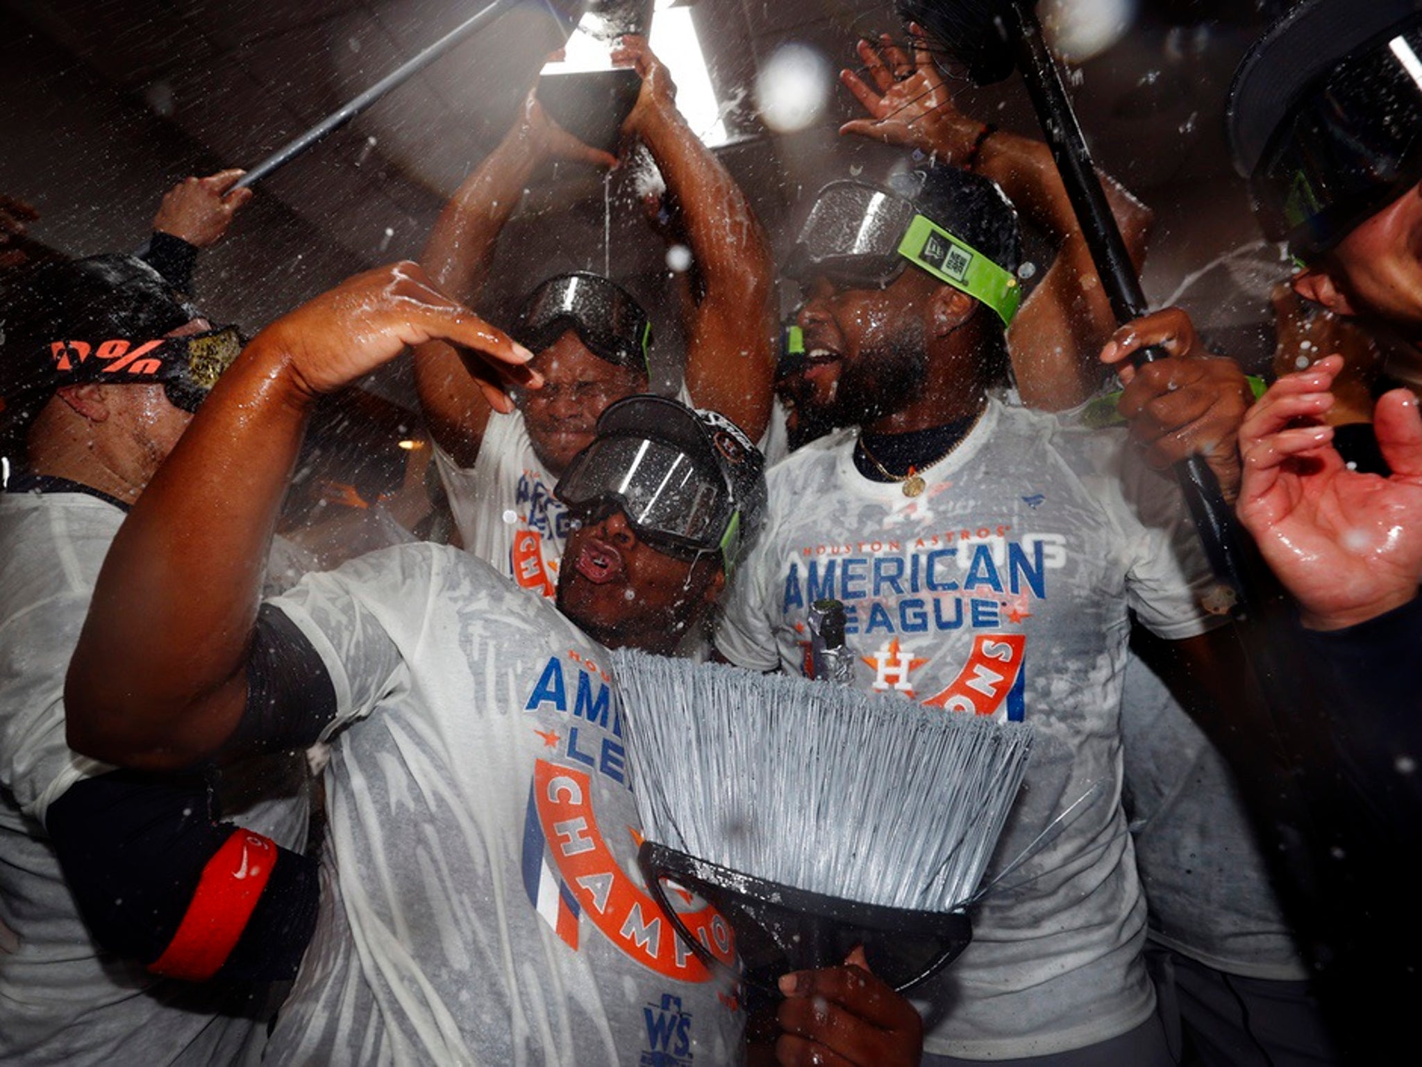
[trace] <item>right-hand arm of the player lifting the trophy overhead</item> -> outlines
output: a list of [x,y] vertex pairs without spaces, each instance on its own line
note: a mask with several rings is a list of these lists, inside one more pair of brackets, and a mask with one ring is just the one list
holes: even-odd
[[698,285],[685,323],[687,391],[758,440],[771,417],[778,336],[769,240],[735,179],[677,111],[677,88],[647,43],[624,37],[613,58],[641,74],[623,129],[657,161],[691,246]]

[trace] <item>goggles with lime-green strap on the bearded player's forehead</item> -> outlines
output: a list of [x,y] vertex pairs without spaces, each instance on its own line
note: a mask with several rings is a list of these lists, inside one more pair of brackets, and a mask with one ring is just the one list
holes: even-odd
[[920,215],[912,201],[859,182],[820,191],[801,228],[786,273],[883,289],[913,263],[991,307],[1007,326],[1022,300],[1017,277],[967,242]]

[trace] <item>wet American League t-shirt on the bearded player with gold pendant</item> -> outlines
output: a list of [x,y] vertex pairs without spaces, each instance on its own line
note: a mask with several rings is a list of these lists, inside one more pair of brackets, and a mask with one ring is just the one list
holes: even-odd
[[805,615],[846,606],[855,684],[1037,728],[988,878],[1064,809],[1075,818],[974,913],[973,943],[914,996],[929,1051],[1044,1056],[1122,1034],[1155,994],[1121,809],[1128,607],[1165,637],[1207,629],[1207,585],[1175,487],[1123,435],[991,401],[917,498],[873,482],[853,440],[769,472],[769,521],[715,636],[732,663],[801,670]]

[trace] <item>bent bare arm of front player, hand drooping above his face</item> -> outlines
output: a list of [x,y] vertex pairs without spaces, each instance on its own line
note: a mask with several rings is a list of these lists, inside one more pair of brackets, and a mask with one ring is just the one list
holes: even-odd
[[109,549],[65,679],[71,748],[142,770],[219,751],[242,718],[262,572],[316,400],[451,340],[482,353],[481,388],[530,356],[434,289],[414,263],[370,270],[277,319],[222,376]]

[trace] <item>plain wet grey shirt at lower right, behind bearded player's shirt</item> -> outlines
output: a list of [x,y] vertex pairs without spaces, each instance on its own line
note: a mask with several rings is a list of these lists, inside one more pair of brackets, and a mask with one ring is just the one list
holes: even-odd
[[1136,656],[1121,734],[1150,939],[1230,975],[1307,979],[1224,757]]

